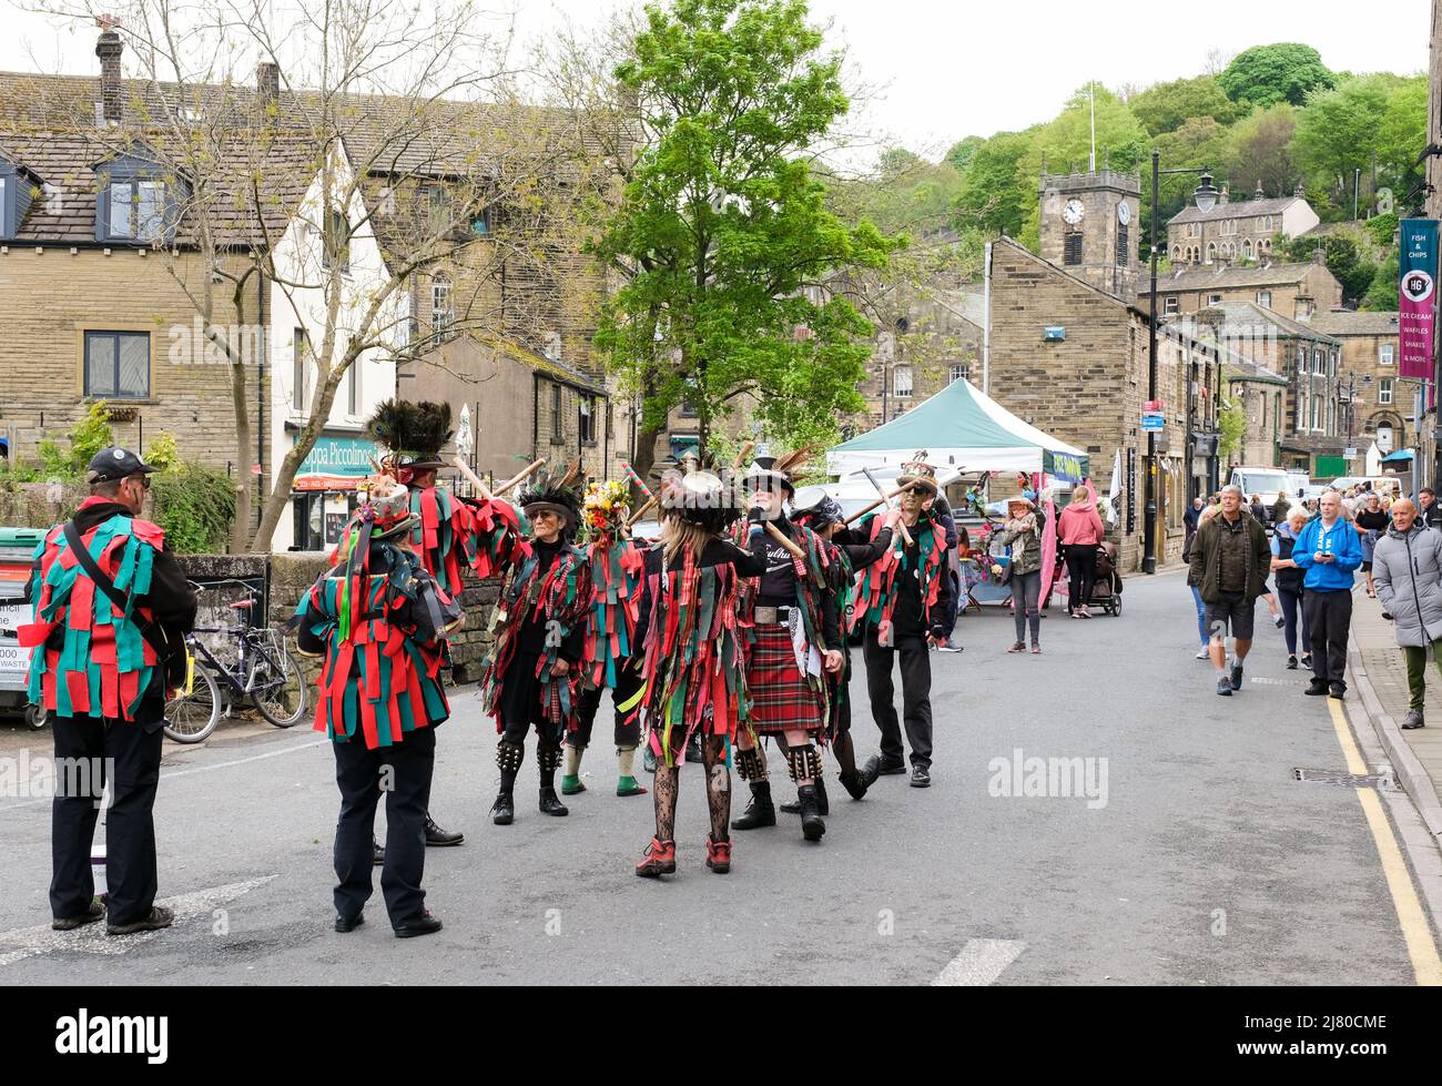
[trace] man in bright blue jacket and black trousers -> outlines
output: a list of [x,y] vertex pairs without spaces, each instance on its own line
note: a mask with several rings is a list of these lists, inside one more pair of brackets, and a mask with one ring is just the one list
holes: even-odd
[[1343,499],[1335,490],[1322,495],[1321,516],[1308,522],[1292,545],[1292,561],[1304,570],[1302,613],[1312,637],[1312,684],[1308,694],[1347,692],[1347,630],[1351,626],[1351,588],[1361,565],[1361,541],[1341,518]]

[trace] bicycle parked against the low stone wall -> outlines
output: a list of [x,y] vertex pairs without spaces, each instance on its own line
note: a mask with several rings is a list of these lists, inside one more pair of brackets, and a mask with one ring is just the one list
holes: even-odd
[[[277,728],[288,728],[306,712],[306,676],[286,648],[281,635],[270,626],[255,626],[260,593],[245,581],[218,581],[245,588],[247,599],[229,604],[239,613],[239,626],[200,627],[186,635],[193,681],[187,694],[166,702],[164,734],[176,743],[200,743],[229,717],[235,702],[249,697],[260,714]],[[200,586],[195,586],[200,587]],[[235,665],[225,663],[196,637],[222,633],[235,640]]]

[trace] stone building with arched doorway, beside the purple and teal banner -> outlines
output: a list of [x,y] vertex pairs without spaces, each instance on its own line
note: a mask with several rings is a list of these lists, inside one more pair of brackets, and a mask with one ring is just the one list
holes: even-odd
[[1397,376],[1397,314],[1331,310],[1312,317],[1311,327],[1341,343],[1338,384],[1353,444],[1376,441],[1384,454],[1410,447],[1422,382]]

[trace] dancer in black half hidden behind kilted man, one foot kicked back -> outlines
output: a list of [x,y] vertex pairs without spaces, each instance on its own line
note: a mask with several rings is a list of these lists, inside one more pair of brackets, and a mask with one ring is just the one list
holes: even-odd
[[[836,613],[836,623],[846,629],[851,622],[851,593],[858,570],[881,558],[891,549],[891,526],[901,516],[891,511],[885,515],[881,529],[875,538],[867,538],[861,532],[852,532],[845,526],[841,505],[831,498],[820,486],[808,486],[792,496],[792,524],[810,528],[822,538],[828,548],[828,583],[831,594],[826,597]],[[867,795],[868,782],[857,772],[855,746],[851,741],[851,645],[845,637],[839,639],[842,668],[839,672],[828,674],[828,691],[831,695],[831,750],[841,766],[838,779],[852,799],[862,799]],[[820,813],[829,813],[826,799],[826,785],[822,777],[816,777],[816,800]],[[782,803],[782,811],[797,813],[800,803]]]

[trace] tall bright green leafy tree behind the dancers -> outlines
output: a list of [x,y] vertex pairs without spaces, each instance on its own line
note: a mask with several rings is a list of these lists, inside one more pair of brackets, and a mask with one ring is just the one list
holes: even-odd
[[642,397],[639,470],[684,402],[704,447],[743,401],[782,443],[861,402],[870,326],[826,280],[901,241],[842,224],[808,163],[848,107],[820,46],[802,0],[673,0],[616,69],[640,147],[597,242],[623,281],[596,343]]

